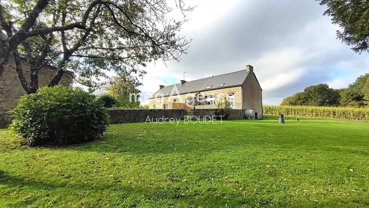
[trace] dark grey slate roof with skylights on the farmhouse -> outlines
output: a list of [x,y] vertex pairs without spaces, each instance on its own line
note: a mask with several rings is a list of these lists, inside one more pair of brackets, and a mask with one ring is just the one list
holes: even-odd
[[[157,94],[159,94],[158,97],[163,95],[170,96],[170,94],[169,95],[166,94],[172,92],[174,86],[177,87],[179,94],[207,91],[219,88],[228,88],[232,86],[240,86],[242,85],[242,83],[244,83],[248,74],[249,71],[241,70],[237,72],[231,72],[228,74],[221,74],[217,76],[210,76],[207,78],[189,81],[183,83],[182,85],[180,85],[179,83],[175,85],[169,85],[156,91],[150,98],[155,98]],[[224,85],[220,86],[223,83]],[[211,85],[213,85],[211,88],[205,89],[207,86]]]

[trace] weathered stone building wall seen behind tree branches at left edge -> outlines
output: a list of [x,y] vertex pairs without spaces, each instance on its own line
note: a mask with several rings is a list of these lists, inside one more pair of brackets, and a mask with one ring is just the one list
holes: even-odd
[[[29,65],[22,61],[22,69],[27,81],[29,81]],[[55,75],[56,69],[52,67],[42,67],[38,72],[39,86],[45,86]],[[72,75],[65,73],[60,82],[61,85],[71,85]],[[3,76],[0,78],[0,127],[6,127],[10,123],[9,111],[17,106],[17,99],[25,95],[25,91],[19,83],[17,72],[15,72],[14,61],[9,60],[5,66]]]

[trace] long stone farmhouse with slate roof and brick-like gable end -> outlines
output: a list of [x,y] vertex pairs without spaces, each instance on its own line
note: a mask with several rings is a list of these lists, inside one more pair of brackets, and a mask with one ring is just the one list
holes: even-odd
[[262,89],[251,65],[228,74],[159,85],[159,90],[149,98],[149,108],[177,109],[186,104],[189,108],[214,109],[220,99],[228,99],[234,109],[252,112],[255,119],[263,118]]

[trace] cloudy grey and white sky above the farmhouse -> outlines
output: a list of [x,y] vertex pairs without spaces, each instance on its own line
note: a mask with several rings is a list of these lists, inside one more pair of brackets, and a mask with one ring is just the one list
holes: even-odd
[[[149,64],[140,79],[144,93],[172,85],[254,67],[263,104],[278,105],[310,85],[344,88],[369,72],[369,54],[355,54],[336,39],[337,25],[314,0],[185,0],[197,5],[187,13],[180,36],[192,38],[180,62]],[[225,3],[227,2],[227,3]],[[143,103],[148,103],[143,100]]]

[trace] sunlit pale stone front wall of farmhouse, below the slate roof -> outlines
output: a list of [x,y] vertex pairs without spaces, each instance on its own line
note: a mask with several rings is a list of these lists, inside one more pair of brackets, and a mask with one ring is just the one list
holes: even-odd
[[[241,89],[241,86],[201,91],[200,93],[203,96],[214,95],[215,100],[218,100],[220,98],[219,96],[225,96],[230,92],[234,93],[234,99],[235,99],[236,103],[242,103],[242,89]],[[186,93],[186,94],[173,95],[173,96],[166,96],[166,97],[159,97],[159,98],[150,98],[149,99],[149,108],[154,109],[154,105],[157,105],[158,109],[163,109],[163,105],[168,104],[168,108],[172,109],[172,103],[174,102],[175,99],[177,99],[179,103],[185,103],[186,98],[191,98],[191,97],[195,98],[197,93],[199,93],[199,92]]]

